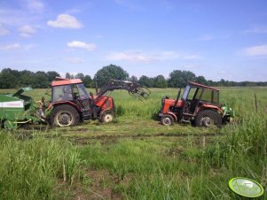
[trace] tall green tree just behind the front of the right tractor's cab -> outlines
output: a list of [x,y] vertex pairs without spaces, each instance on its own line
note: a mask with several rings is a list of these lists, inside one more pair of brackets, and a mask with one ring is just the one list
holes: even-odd
[[184,88],[188,81],[195,81],[196,75],[190,71],[174,70],[169,73],[170,88]]

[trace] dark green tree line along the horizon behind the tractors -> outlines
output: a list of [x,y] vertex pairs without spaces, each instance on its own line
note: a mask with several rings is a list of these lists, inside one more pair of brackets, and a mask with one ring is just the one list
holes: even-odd
[[[28,70],[18,71],[11,68],[4,68],[0,72],[0,88],[20,88],[30,86],[32,88],[49,88],[51,81],[59,77],[59,73],[55,71],[49,72],[31,72]],[[106,65],[103,66],[94,75],[84,75],[77,73],[76,75],[66,73],[67,79],[81,79],[86,88],[95,88],[95,82],[98,87],[105,85],[109,80],[127,80],[137,81],[148,88],[183,88],[188,81],[195,81],[200,84],[214,86],[214,87],[245,87],[245,86],[267,86],[267,81],[211,81],[206,80],[204,76],[196,76],[190,71],[174,70],[169,73],[169,78],[166,79],[163,75],[156,77],[148,77],[142,75],[139,79],[137,76],[130,76],[121,66]]]

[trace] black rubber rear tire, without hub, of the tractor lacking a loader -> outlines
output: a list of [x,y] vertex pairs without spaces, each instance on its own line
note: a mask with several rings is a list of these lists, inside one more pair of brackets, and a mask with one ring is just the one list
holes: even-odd
[[204,110],[204,111],[199,112],[195,119],[196,127],[206,127],[201,124],[201,119],[203,119],[204,117],[208,117],[209,119],[212,119],[214,122],[214,126],[222,127],[223,119],[221,115],[218,112],[213,111],[213,110]]

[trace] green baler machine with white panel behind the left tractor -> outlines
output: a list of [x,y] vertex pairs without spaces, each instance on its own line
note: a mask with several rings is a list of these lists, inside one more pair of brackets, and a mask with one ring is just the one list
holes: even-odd
[[32,97],[22,95],[32,88],[20,88],[13,94],[0,94],[0,127],[16,129],[21,124],[40,122]]

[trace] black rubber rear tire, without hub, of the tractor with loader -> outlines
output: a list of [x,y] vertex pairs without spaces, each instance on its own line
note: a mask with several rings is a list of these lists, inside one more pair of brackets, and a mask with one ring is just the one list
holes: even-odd
[[[72,117],[72,123],[68,126],[60,126],[59,123],[57,122],[56,118],[58,117],[59,113],[61,112],[67,112],[69,115],[71,115]],[[76,109],[71,106],[71,105],[67,105],[67,104],[62,104],[62,105],[58,105],[56,108],[53,109],[53,111],[51,112],[51,125],[55,126],[55,127],[73,127],[76,126],[79,123],[79,113],[76,111]]]

